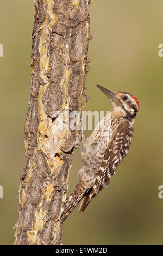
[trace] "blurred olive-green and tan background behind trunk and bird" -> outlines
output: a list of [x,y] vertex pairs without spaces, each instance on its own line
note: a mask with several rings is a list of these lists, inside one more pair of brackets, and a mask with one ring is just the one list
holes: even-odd
[[[64,245],[163,244],[162,175],[163,43],[162,0],[93,0],[84,110],[109,111],[110,104],[96,88],[99,83],[138,97],[140,112],[134,124],[129,154],[110,185],[82,214],[75,209],[64,223]],[[24,166],[24,117],[28,109],[33,0],[1,1],[1,176],[0,244],[14,242],[18,217],[18,187]],[[88,136],[89,132],[86,132]],[[79,168],[73,155],[72,192]]]

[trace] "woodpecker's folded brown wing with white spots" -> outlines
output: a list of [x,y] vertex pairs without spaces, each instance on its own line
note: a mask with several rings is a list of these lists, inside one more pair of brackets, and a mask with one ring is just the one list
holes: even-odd
[[111,141],[105,150],[95,184],[82,200],[79,208],[80,212],[84,211],[90,200],[93,197],[96,197],[98,193],[109,184],[116,168],[128,152],[132,137],[133,127],[130,127],[126,122],[117,126],[117,129],[112,134]]

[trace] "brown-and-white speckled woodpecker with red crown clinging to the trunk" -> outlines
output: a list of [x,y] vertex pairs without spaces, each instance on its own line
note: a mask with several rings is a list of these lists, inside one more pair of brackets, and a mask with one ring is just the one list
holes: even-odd
[[112,175],[127,155],[133,137],[133,124],[139,111],[137,98],[130,93],[113,93],[98,84],[97,87],[108,96],[111,115],[105,115],[83,143],[84,165],[78,172],[74,192],[66,199],[63,221],[80,200],[79,212],[83,212],[91,199],[109,185]]

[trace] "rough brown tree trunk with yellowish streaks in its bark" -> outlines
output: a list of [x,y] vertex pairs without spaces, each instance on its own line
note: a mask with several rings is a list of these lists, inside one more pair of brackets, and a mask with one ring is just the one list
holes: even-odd
[[15,245],[59,245],[73,148],[81,131],[68,116],[82,114],[89,69],[89,0],[35,0],[32,76]]

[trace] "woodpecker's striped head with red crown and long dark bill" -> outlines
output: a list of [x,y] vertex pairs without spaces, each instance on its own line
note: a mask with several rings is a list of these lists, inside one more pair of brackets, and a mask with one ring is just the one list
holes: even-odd
[[128,119],[134,119],[137,112],[139,111],[139,101],[130,93],[116,92],[112,93],[110,90],[99,86],[97,87],[108,96],[112,106],[112,111],[120,112],[123,116]]

